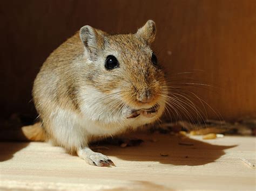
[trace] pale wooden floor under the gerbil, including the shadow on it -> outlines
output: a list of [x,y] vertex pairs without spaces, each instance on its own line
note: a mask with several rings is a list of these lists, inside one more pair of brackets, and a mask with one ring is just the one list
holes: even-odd
[[115,167],[89,166],[48,143],[0,143],[0,190],[255,190],[256,171],[240,160],[255,163],[255,137],[133,137],[144,143],[95,149]]

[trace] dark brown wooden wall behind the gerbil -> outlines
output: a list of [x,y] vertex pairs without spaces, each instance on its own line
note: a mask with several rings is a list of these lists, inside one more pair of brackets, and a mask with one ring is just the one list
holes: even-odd
[[[226,119],[256,108],[255,0],[1,1],[2,116],[35,114],[33,79],[43,61],[83,25],[112,33],[157,24],[154,49],[173,76],[213,84],[194,88]],[[193,72],[177,74],[183,72]],[[208,89],[208,87],[207,87]],[[209,111],[209,117],[217,116]]]

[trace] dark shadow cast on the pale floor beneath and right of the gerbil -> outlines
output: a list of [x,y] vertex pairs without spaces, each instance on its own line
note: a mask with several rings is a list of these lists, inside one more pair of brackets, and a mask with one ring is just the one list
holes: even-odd
[[[144,142],[139,146],[122,148],[120,146],[104,145],[104,148],[94,149],[105,155],[130,161],[158,161],[161,164],[198,166],[219,159],[225,154],[224,150],[235,147],[212,145],[190,138],[170,135],[139,135],[136,138]],[[156,142],[152,142],[152,139]],[[215,139],[218,141],[218,139]],[[167,156],[164,156],[167,155]]]

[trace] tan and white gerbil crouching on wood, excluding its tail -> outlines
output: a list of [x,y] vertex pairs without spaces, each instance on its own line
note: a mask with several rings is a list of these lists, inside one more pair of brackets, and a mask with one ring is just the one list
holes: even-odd
[[42,136],[90,165],[113,165],[88,144],[152,123],[165,109],[165,75],[150,48],[155,36],[152,20],[135,34],[86,25],[53,51],[32,90]]

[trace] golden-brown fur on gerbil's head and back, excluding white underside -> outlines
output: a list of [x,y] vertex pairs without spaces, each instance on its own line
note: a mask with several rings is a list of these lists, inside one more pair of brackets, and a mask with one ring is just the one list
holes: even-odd
[[[32,95],[44,131],[41,131],[42,136],[34,131],[35,136],[28,137],[41,140],[46,138],[46,132],[57,145],[76,150],[75,146],[67,146],[57,140],[56,133],[52,131],[51,118],[56,115],[56,108],[82,115],[79,93],[86,92],[88,86],[106,96],[118,90],[122,102],[132,108],[156,104],[165,78],[163,71],[153,66],[151,61],[150,44],[155,35],[156,26],[152,21],[147,22],[136,34],[110,35],[90,26],[82,27],[80,38],[77,32],[53,51],[36,77]],[[109,54],[115,54],[120,68],[104,68],[105,58]],[[149,103],[139,101],[145,92],[151,96]]]

